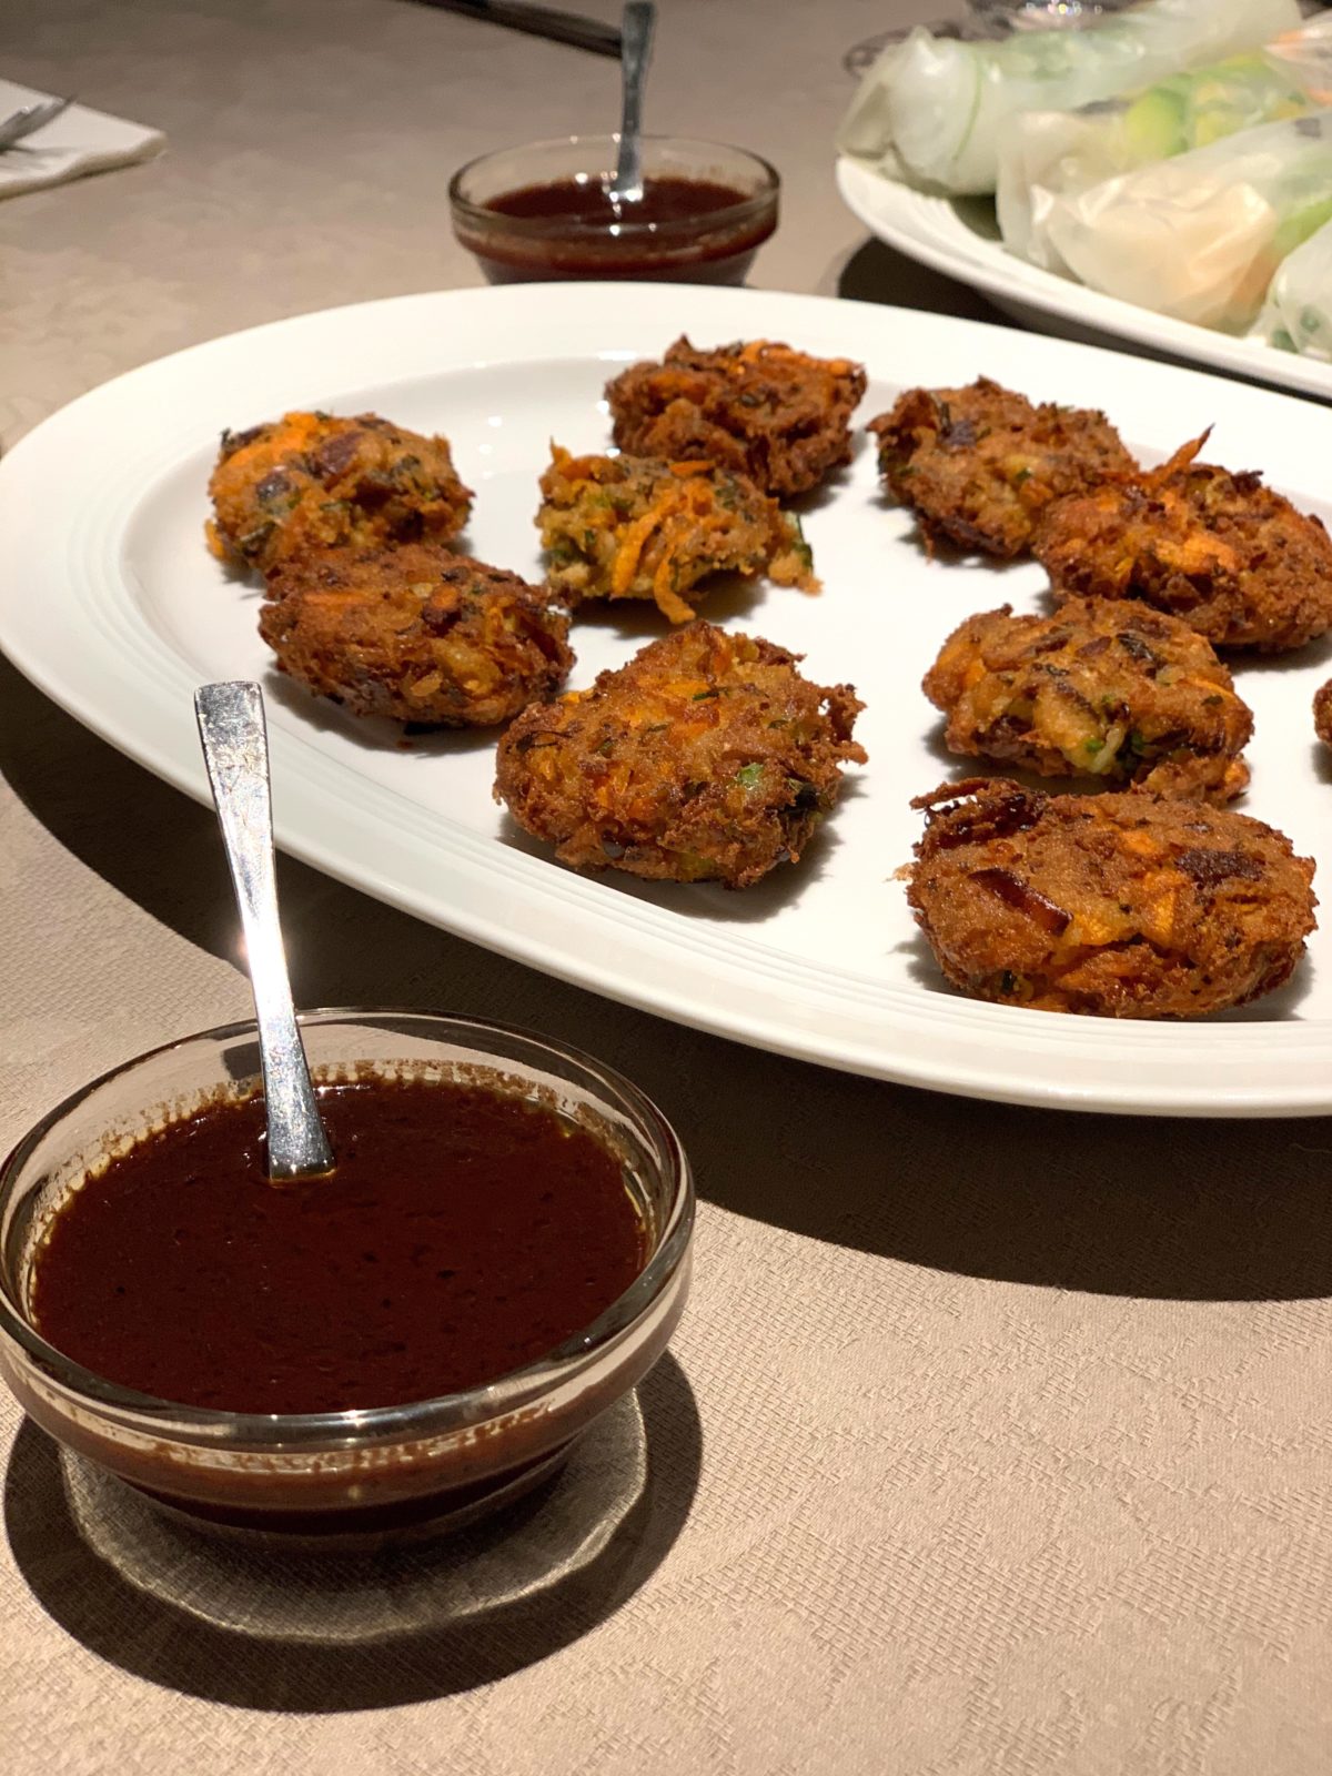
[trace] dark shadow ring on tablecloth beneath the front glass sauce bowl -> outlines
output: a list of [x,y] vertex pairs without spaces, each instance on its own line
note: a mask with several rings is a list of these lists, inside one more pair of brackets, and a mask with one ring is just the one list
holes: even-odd
[[99,1659],[208,1701],[336,1714],[492,1684],[606,1621],[684,1527],[700,1462],[693,1391],[666,1355],[561,1476],[426,1547],[236,1552],[83,1463],[62,1469],[30,1421],[5,1527],[34,1597]]

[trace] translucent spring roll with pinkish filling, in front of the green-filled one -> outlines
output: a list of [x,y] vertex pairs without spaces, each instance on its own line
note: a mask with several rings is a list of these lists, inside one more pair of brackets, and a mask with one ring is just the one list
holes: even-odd
[[1053,199],[1048,233],[1083,284],[1243,332],[1282,259],[1332,218],[1332,112],[1266,123]]

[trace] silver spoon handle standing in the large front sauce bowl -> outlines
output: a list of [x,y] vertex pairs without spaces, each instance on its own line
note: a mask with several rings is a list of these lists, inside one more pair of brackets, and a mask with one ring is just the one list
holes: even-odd
[[199,739],[213,789],[259,1025],[268,1176],[318,1177],[334,1165],[300,1041],[282,927],[277,922],[268,732],[258,684],[204,684],[194,693]]

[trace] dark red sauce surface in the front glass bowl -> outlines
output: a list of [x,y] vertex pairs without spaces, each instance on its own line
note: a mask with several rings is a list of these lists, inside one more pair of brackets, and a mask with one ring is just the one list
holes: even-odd
[[643,1270],[620,1162],[483,1087],[320,1089],[329,1177],[274,1185],[263,1099],[147,1135],[71,1193],[37,1252],[57,1350],[160,1399],[336,1412],[494,1382]]

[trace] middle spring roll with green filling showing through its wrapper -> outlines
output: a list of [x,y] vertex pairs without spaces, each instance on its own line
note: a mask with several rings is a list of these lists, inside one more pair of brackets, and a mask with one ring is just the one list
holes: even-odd
[[1012,117],[1000,135],[1003,245],[1032,265],[1064,270],[1046,233],[1055,197],[1328,103],[1332,12],[1323,12],[1263,50],[1170,75],[1144,92]]

